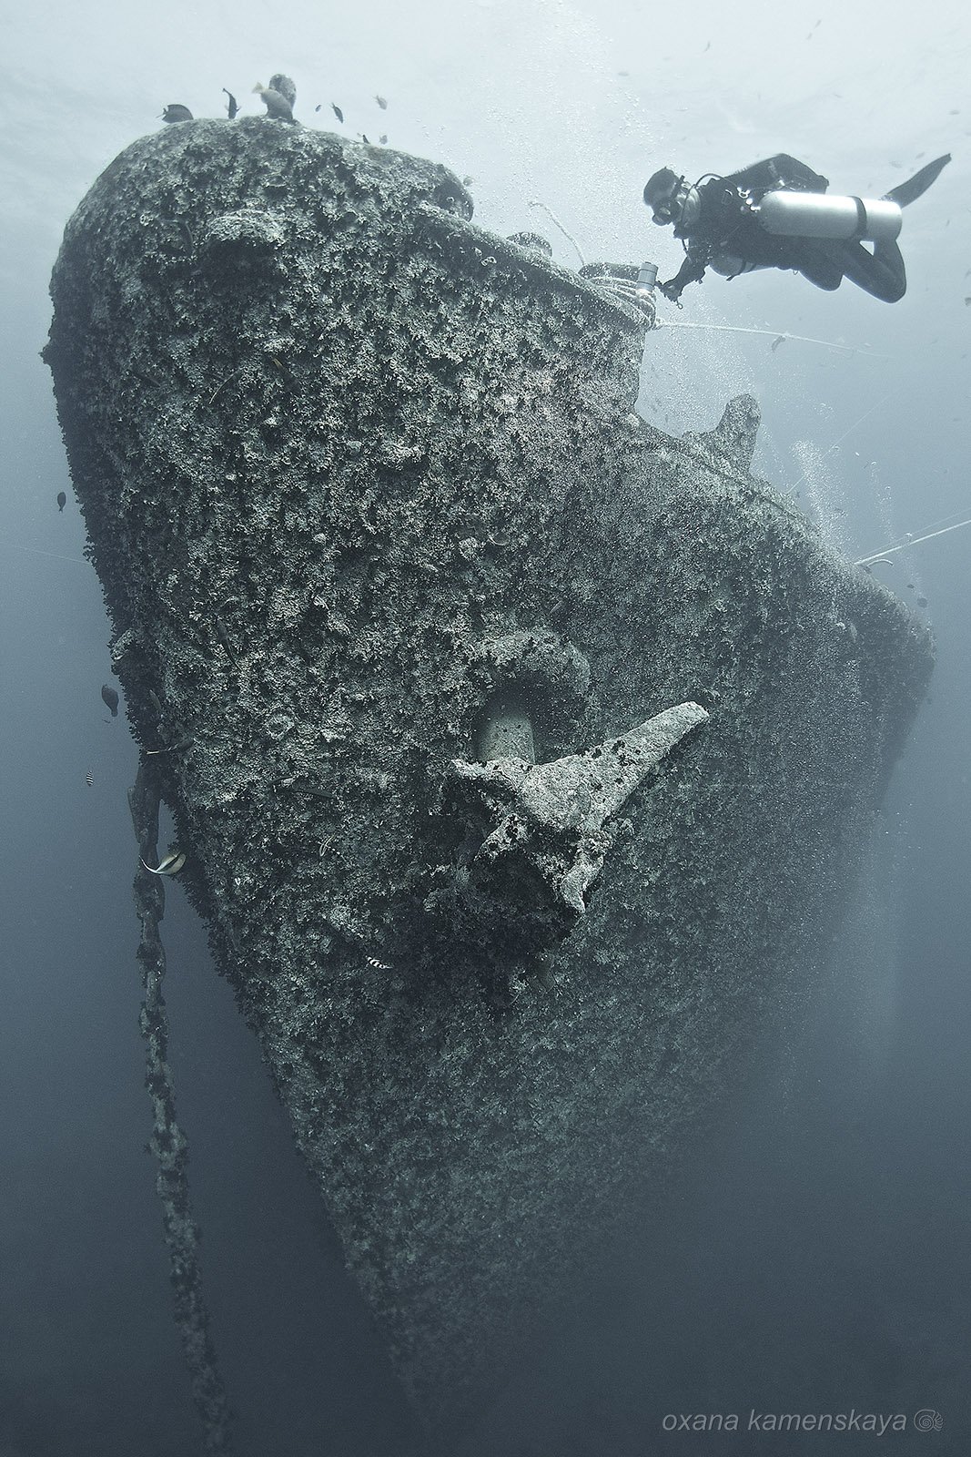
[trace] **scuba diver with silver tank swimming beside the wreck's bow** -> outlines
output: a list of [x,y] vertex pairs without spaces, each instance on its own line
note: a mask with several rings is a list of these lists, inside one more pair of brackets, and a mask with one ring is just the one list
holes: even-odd
[[793,268],[817,288],[839,288],[849,278],[875,299],[897,303],[907,291],[897,245],[901,208],[926,192],[948,162],[951,153],[875,201],[827,195],[828,179],[785,152],[728,176],[706,173],[693,185],[661,168],[643,201],[655,223],[674,223],[687,256],[658,287],[680,306],[681,290],[700,283],[706,268],[726,278]]

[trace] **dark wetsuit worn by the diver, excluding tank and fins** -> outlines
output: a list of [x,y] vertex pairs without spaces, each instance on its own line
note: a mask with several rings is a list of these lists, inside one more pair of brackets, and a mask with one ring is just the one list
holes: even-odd
[[661,286],[664,293],[677,299],[686,284],[705,277],[708,267],[729,278],[750,268],[795,268],[817,288],[839,288],[849,278],[885,303],[903,299],[907,274],[895,242],[873,243],[869,252],[856,239],[774,237],[760,227],[754,207],[766,192],[825,192],[828,185],[827,178],[785,152],[702,182],[699,216],[674,229],[687,245],[687,256],[674,278]]

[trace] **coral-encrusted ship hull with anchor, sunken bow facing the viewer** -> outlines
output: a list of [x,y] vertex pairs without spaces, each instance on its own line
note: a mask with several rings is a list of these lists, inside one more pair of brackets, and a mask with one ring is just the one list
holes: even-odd
[[[811,988],[930,645],[431,163],[124,152],[47,357],[181,879],[431,1423]],[[661,717],[659,717],[661,715]]]

